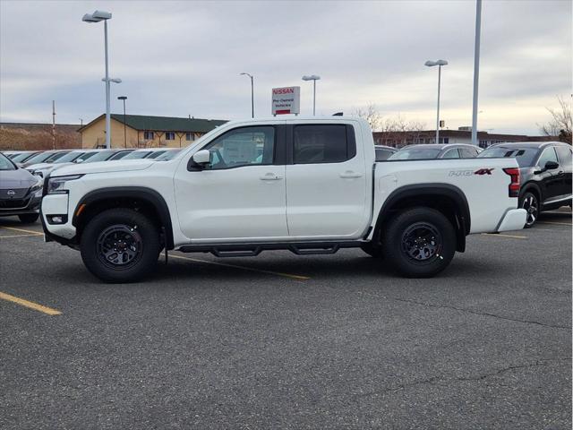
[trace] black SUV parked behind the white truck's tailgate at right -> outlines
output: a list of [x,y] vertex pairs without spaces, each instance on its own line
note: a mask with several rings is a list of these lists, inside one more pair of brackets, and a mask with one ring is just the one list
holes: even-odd
[[527,211],[526,228],[541,211],[571,206],[571,145],[563,142],[498,143],[478,157],[515,157],[521,189],[519,207]]

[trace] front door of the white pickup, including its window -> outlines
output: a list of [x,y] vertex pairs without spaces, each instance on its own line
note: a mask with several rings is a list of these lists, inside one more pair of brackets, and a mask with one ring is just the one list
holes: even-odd
[[284,125],[237,127],[201,148],[211,152],[205,168],[188,166],[188,159],[179,165],[175,199],[184,236],[199,242],[288,237],[284,133]]

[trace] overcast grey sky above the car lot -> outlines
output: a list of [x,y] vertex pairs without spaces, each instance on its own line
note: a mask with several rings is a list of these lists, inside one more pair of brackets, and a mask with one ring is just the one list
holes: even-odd
[[[475,1],[50,2],[0,0],[0,120],[84,123],[105,111],[103,24],[109,22],[112,112],[235,119],[270,115],[273,87],[300,85],[301,113],[374,104],[435,127],[471,125]],[[571,2],[483,1],[480,130],[538,133],[545,107],[570,97]]]

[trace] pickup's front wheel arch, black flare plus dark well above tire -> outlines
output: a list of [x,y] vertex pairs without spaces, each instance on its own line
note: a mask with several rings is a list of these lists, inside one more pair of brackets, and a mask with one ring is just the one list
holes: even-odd
[[85,194],[73,211],[72,224],[76,228],[77,241],[86,222],[102,211],[113,208],[132,208],[141,211],[165,229],[165,246],[174,248],[173,226],[169,207],[157,191],[143,186],[114,186]]

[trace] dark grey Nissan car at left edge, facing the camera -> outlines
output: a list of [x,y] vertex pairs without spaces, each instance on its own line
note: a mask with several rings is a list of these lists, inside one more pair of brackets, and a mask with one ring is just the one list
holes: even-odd
[[42,201],[42,181],[25,168],[18,168],[0,153],[0,217],[17,215],[22,222],[35,222]]

